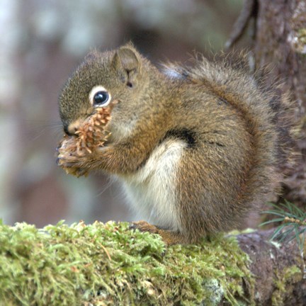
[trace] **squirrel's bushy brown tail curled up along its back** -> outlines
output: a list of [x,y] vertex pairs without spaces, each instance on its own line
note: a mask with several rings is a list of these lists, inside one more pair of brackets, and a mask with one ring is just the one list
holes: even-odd
[[247,56],[232,55],[217,62],[196,58],[190,68],[176,68],[182,77],[203,84],[209,91],[230,103],[246,121],[252,136],[253,157],[241,200],[249,206],[268,200],[268,194],[279,186],[283,169],[288,166],[293,147],[293,106],[287,94],[280,95],[281,84],[263,86],[267,69],[250,75]]

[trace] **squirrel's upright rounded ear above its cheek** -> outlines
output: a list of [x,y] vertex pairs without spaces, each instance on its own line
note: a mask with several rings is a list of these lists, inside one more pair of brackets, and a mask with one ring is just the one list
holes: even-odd
[[140,56],[132,45],[120,47],[113,57],[113,67],[120,75],[121,81],[132,87],[140,73]]

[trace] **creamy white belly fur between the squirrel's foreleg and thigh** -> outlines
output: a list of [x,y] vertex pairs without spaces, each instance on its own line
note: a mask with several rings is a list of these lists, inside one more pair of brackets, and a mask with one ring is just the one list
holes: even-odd
[[128,201],[138,220],[174,231],[181,227],[175,186],[185,147],[182,140],[166,140],[154,149],[137,173],[122,178]]

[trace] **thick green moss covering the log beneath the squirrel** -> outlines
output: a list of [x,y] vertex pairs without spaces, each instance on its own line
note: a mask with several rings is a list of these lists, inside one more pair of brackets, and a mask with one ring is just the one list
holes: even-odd
[[0,305],[241,305],[248,263],[234,237],[165,248],[128,223],[0,225]]

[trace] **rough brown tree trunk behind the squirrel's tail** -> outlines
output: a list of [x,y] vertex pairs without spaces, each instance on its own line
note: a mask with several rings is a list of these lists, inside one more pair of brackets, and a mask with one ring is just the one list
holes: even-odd
[[[280,80],[282,93],[290,92],[295,109],[299,137],[299,155],[294,169],[283,169],[283,198],[306,207],[306,1],[305,0],[246,0],[232,35],[230,47],[253,19],[252,47],[255,68],[271,67],[264,79],[266,86]],[[282,94],[280,93],[280,94]]]

